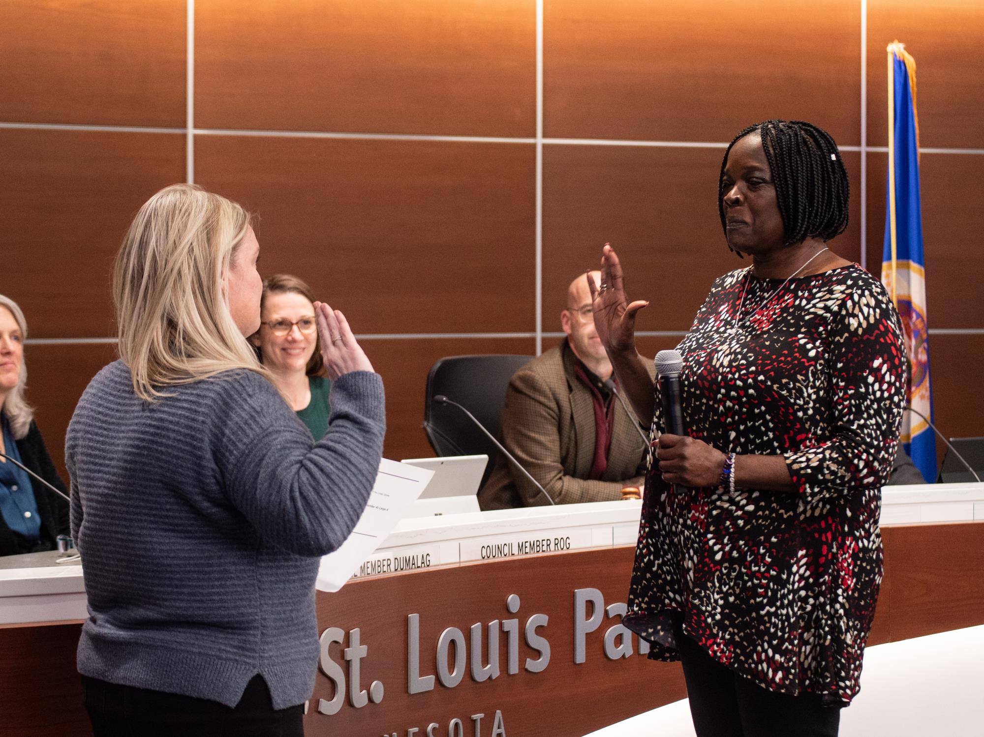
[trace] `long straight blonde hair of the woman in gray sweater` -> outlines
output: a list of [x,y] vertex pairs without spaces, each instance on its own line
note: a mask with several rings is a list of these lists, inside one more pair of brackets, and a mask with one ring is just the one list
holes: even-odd
[[242,206],[195,185],[165,187],[140,208],[113,269],[119,355],[139,397],[230,369],[270,378],[222,290],[249,227]]

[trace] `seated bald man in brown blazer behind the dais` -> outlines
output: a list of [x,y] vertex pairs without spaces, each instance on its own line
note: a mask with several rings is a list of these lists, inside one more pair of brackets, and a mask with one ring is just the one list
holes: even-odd
[[[597,284],[601,273],[591,277]],[[568,288],[561,323],[564,342],[510,382],[502,442],[557,504],[621,499],[623,487],[642,488],[647,448],[633,427],[635,418],[604,386],[612,366],[594,330],[584,275]],[[478,503],[482,509],[549,504],[501,455]]]

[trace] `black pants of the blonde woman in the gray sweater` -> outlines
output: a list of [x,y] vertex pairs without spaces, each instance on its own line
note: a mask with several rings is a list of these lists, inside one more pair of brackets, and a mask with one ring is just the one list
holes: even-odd
[[95,737],[304,737],[304,707],[275,710],[262,676],[254,676],[235,709],[82,677]]

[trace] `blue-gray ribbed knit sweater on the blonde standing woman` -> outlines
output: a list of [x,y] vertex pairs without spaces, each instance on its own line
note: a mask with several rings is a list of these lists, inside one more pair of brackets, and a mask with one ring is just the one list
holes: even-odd
[[170,391],[141,401],[117,361],[69,425],[90,614],[79,672],[229,707],[259,673],[275,709],[301,704],[319,652],[319,556],[348,537],[379,467],[382,379],[335,381],[318,443],[252,371]]

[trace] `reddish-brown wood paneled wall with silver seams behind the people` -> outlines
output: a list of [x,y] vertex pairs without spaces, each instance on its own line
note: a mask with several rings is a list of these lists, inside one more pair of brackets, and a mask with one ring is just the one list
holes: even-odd
[[653,303],[643,347],[674,345],[736,264],[714,192],[723,143],[750,123],[830,130],[852,183],[833,248],[878,272],[896,38],[919,64],[937,419],[984,434],[965,369],[984,359],[968,194],[984,173],[984,0],[868,0],[866,44],[860,0],[196,0],[192,95],[188,6],[4,6],[0,293],[41,339],[30,399],[59,460],[79,394],[113,356],[86,339],[113,335],[123,232],[189,178],[257,214],[264,270],[308,279],[369,336],[398,458],[430,454],[430,364],[556,343],[564,288],[605,241]]

